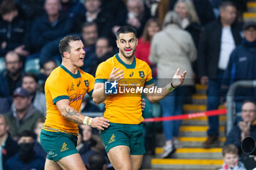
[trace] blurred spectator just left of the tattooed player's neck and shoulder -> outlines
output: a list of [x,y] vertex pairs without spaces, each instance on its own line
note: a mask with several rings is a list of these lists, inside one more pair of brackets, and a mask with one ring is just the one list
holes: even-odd
[[56,61],[49,59],[47,61],[45,61],[44,64],[42,64],[42,69],[40,70],[40,74],[38,76],[39,81],[39,89],[40,91],[44,92],[45,91],[45,81],[47,80],[47,78],[50,76],[50,73],[53,72],[53,69],[55,69],[57,67],[57,63]]

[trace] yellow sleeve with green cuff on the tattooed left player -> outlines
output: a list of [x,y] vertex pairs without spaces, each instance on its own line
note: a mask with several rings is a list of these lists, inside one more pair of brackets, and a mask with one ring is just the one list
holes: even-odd
[[48,81],[48,89],[50,96],[53,98],[53,104],[62,99],[69,99],[67,94],[68,84],[64,80],[59,79],[59,77]]

